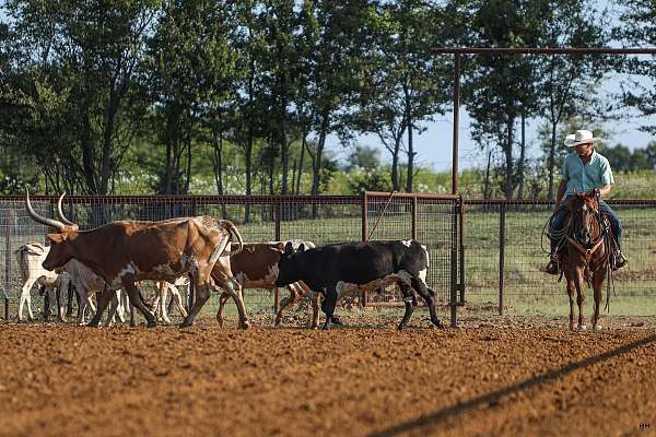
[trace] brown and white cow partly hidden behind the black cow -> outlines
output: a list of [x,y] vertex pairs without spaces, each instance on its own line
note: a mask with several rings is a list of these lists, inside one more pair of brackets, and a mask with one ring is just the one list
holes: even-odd
[[[290,243],[293,247],[304,245],[312,248],[315,245],[312,241],[290,240],[290,241],[268,241],[268,243],[245,243],[241,252],[233,255],[231,258],[231,270],[235,280],[242,288],[263,288],[276,290],[276,279],[278,277],[278,261],[284,251],[285,244]],[[236,247],[231,246],[231,250]],[[212,270],[212,279],[215,275],[215,270]],[[314,294],[304,283],[295,282],[286,285],[290,291],[290,297],[283,300],[283,305],[278,310],[276,316],[276,326],[280,324],[282,315],[286,308],[294,305],[303,295],[308,295],[313,303],[313,320],[312,327],[316,328],[319,319],[319,303],[318,294]],[[223,306],[230,295],[223,293],[219,299],[219,310],[216,311],[216,320],[219,324],[223,324]]]

